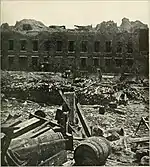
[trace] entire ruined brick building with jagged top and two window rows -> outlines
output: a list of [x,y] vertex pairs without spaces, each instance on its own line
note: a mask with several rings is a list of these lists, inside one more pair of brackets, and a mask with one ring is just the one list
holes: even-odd
[[148,74],[149,28],[140,21],[122,19],[120,27],[113,21],[96,27],[49,26],[31,19],[2,24],[2,70],[47,71],[66,69],[104,73],[136,72]]

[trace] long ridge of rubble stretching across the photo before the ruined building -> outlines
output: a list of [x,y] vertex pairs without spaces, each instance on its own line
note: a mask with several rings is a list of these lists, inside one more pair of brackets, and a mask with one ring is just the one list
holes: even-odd
[[[144,81],[144,80],[143,80]],[[143,88],[143,85],[146,87]],[[93,79],[75,78],[73,82],[54,73],[25,73],[2,72],[2,94],[6,97],[29,99],[37,102],[61,104],[57,89],[63,91],[75,91],[81,104],[108,105],[112,101],[119,102],[122,96],[129,100],[138,100],[149,103],[147,82],[139,87],[125,82],[99,83]],[[147,95],[145,96],[145,93]],[[123,95],[122,95],[123,94]],[[2,96],[2,98],[3,98]],[[124,97],[123,97],[124,98]],[[116,111],[117,112],[117,111]]]

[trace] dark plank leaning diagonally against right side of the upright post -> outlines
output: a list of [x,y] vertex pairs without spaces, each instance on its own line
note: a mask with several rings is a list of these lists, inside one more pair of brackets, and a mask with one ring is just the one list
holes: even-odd
[[84,117],[83,111],[82,111],[81,106],[80,106],[79,103],[76,104],[76,109],[77,109],[77,114],[78,114],[78,117],[80,119],[80,122],[83,126],[84,132],[85,132],[87,137],[90,137],[91,136],[91,130],[90,130],[90,127],[88,126],[88,123],[86,121],[86,118]]

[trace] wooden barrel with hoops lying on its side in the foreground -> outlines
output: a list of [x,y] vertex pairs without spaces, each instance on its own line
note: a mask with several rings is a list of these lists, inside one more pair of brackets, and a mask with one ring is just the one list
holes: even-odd
[[103,137],[89,137],[75,149],[74,159],[77,166],[104,165],[111,147]]

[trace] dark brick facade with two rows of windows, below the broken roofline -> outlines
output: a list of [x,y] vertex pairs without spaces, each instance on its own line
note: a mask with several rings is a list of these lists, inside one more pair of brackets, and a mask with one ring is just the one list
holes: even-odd
[[[2,32],[1,61],[2,69],[6,70],[39,70],[39,64],[48,62],[49,71],[72,70],[96,72],[101,68],[103,72],[133,72],[133,67],[128,65],[129,59],[133,63],[138,60],[145,66],[148,59],[141,56],[139,51],[139,31],[134,33],[101,34],[100,32],[65,31],[65,32],[39,32],[32,35],[23,35],[19,32]],[[14,41],[14,49],[8,50],[9,40]],[[26,49],[20,50],[20,40],[26,40]],[[38,40],[38,51],[33,51],[33,40]],[[44,42],[50,41],[49,51],[45,50]],[[132,42],[132,53],[128,53],[128,41]],[[62,41],[62,50],[57,51],[56,43]],[[68,51],[69,41],[74,41],[74,51]],[[87,51],[82,51],[82,42],[86,41]],[[99,41],[99,50],[95,51],[94,43]],[[111,41],[111,51],[106,51],[106,41]],[[117,51],[121,43],[121,52]],[[85,45],[86,45],[85,44]],[[85,46],[84,46],[85,47]],[[147,51],[148,52],[148,51]],[[11,60],[12,61],[11,64]],[[141,61],[141,59],[143,61]],[[98,63],[97,63],[98,61]],[[36,67],[37,65],[37,67]],[[127,66],[127,68],[123,68]],[[145,67],[144,67],[145,68]],[[142,71],[142,70],[141,70]]]

